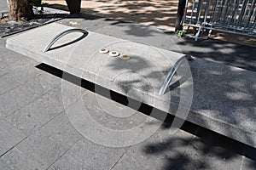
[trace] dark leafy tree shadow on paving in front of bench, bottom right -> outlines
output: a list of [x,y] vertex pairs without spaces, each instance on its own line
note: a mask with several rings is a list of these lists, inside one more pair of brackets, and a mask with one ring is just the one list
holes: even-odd
[[[247,149],[251,152],[251,156],[246,158],[245,163],[237,147],[241,150],[242,145],[237,145],[236,142],[232,144],[230,139],[207,132],[203,137],[195,137],[192,140],[171,137],[165,142],[150,143],[144,146],[143,152],[150,156],[164,156],[165,163],[161,168],[163,170],[255,169],[255,149]],[[185,148],[185,151],[177,150],[177,148]]]

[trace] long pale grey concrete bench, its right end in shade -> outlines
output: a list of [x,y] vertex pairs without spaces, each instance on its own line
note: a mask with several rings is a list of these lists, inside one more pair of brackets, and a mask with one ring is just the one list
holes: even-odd
[[[53,37],[71,28],[55,23],[39,27],[10,37],[6,46],[201,127],[256,146],[255,72],[194,58],[187,64],[184,62],[177,71],[180,77],[174,77],[170,90],[160,95],[168,73],[184,54],[91,31],[67,34],[45,49]],[[131,59],[101,54],[102,48],[128,54]],[[183,81],[175,86],[173,82],[178,79]]]

